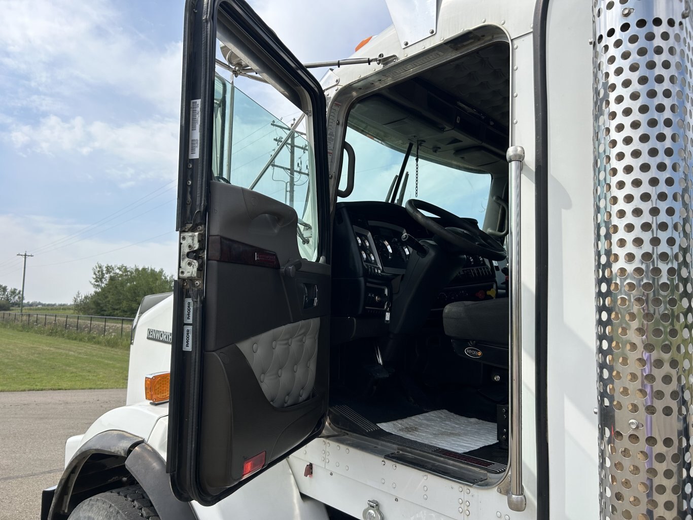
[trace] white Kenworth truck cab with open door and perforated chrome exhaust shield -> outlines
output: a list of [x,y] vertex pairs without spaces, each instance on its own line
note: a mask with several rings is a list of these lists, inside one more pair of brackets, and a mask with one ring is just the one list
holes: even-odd
[[42,519],[692,519],[689,3],[387,3],[318,82],[186,2],[177,281]]

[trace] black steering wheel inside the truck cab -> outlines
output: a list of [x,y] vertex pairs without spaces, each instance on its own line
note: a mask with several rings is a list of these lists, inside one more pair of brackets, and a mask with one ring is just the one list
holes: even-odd
[[[479,229],[477,225],[472,223],[471,219],[458,217],[450,211],[419,199],[410,198],[405,207],[407,213],[417,223],[457,250],[489,260],[505,259],[506,254],[502,244]],[[444,225],[424,215],[421,210],[439,217]]]

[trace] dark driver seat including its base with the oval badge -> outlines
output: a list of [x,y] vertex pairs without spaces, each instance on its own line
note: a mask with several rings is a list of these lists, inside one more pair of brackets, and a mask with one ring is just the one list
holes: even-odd
[[443,310],[443,328],[458,356],[508,367],[510,334],[508,298],[454,302]]

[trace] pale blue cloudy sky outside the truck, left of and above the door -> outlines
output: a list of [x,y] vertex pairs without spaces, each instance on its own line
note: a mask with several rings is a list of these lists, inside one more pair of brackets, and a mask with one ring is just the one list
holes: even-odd
[[[304,62],[391,24],[384,0],[250,3]],[[97,262],[175,272],[183,6],[0,0],[0,284],[33,254],[25,301],[71,302]]]

